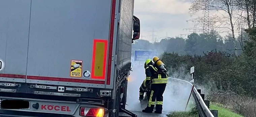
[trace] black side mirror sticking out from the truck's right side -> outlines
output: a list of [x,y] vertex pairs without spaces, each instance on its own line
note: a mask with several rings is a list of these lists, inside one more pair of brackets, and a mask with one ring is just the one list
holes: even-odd
[[140,33],[140,23],[139,18],[136,16],[133,16],[133,35],[132,35],[132,43],[133,40],[139,39],[139,33]]

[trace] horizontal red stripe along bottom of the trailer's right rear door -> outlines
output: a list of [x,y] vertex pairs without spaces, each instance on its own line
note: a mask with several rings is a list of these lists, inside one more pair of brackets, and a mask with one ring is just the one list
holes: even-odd
[[27,79],[44,80],[44,81],[61,81],[61,82],[72,82],[72,83],[105,84],[105,81],[71,79],[71,78],[57,78],[57,77],[27,76]]

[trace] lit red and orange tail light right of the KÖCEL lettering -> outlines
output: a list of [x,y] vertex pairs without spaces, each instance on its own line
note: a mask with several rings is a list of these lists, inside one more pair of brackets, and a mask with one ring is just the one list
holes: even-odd
[[84,117],[103,117],[104,109],[102,108],[85,108],[81,107],[80,115]]

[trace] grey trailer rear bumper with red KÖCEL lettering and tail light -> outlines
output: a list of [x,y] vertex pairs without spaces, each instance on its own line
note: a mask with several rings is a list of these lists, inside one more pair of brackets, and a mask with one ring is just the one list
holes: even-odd
[[[12,109],[6,109],[7,100],[15,101],[25,101],[28,102],[29,107],[24,107],[22,109],[15,109],[18,107],[19,103],[9,103]],[[13,98],[13,97],[0,97],[0,113],[3,116],[15,115],[18,117],[28,116],[28,117],[45,117],[54,116],[58,117],[83,117],[87,114],[103,114],[102,117],[108,116],[107,109],[92,105],[83,104],[79,102],[70,101],[57,101],[57,100],[41,100],[41,99],[31,99],[31,98]],[[28,113],[28,114],[26,114]],[[15,117],[13,116],[13,117]],[[2,115],[1,115],[2,117]]]

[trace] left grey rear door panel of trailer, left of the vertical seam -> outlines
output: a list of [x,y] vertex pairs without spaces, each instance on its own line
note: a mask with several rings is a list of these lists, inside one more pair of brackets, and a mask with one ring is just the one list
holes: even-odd
[[0,0],[1,81],[25,82],[31,0]]

